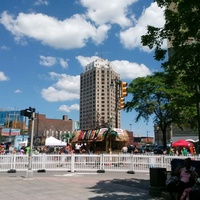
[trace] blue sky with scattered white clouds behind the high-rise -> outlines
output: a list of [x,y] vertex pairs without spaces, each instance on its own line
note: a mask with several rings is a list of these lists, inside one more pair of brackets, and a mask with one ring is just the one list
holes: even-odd
[[[164,22],[153,0],[0,0],[0,109],[78,121],[84,67],[102,57],[128,84],[161,71],[141,36]],[[121,111],[121,128],[154,136],[135,118]]]

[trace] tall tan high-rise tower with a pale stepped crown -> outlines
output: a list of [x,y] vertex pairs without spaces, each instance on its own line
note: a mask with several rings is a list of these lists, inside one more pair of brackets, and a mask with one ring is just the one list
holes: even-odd
[[[85,67],[80,81],[80,129],[120,128],[118,109],[120,76],[107,60],[99,58]],[[111,83],[114,86],[111,87]]]

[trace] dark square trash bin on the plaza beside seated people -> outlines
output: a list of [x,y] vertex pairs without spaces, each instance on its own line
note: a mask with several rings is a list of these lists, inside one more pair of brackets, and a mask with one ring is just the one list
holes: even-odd
[[167,180],[166,168],[150,168],[150,186],[151,187],[165,187]]

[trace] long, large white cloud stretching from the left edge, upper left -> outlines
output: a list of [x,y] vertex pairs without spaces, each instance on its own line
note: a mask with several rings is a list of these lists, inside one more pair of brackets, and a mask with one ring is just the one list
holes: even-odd
[[42,13],[19,13],[15,18],[4,11],[0,23],[14,35],[18,42],[24,42],[25,37],[29,37],[57,49],[81,48],[89,39],[100,44],[106,39],[110,29],[109,25],[96,28],[79,14],[60,21]]

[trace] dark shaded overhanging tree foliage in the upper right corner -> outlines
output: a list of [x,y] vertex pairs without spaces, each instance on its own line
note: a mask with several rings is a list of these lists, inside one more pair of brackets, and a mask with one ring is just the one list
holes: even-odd
[[[155,0],[165,8],[164,27],[148,26],[142,36],[142,44],[155,48],[156,60],[169,58],[162,67],[171,76],[179,76],[193,92],[190,101],[197,105],[197,122],[200,147],[200,1],[199,0]],[[164,40],[169,41],[168,51],[162,48]]]

